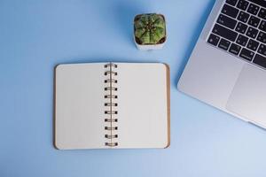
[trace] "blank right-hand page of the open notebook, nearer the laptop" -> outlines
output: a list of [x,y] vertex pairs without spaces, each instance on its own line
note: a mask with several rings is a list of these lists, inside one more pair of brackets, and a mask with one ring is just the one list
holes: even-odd
[[117,63],[114,100],[116,148],[166,148],[169,144],[168,66]]

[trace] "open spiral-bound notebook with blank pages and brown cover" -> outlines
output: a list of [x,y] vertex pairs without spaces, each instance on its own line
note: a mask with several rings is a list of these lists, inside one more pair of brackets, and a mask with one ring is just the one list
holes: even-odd
[[169,106],[168,65],[58,65],[55,146],[59,150],[167,148]]

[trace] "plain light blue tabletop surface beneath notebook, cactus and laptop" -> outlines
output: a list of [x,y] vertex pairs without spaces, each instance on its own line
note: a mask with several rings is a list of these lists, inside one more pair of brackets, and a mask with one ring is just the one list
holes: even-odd
[[[0,176],[266,176],[265,131],[176,89],[214,3],[0,0]],[[132,19],[142,12],[165,14],[163,50],[136,49]],[[54,66],[106,60],[170,65],[170,148],[53,148]]]

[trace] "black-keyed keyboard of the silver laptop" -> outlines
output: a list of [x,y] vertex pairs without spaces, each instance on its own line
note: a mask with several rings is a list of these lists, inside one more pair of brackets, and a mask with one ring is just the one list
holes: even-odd
[[207,42],[266,69],[266,1],[226,0]]

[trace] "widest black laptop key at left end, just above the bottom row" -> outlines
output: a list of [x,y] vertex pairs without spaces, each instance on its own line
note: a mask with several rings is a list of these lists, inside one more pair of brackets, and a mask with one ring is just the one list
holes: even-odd
[[231,31],[230,29],[222,27],[221,25],[218,24],[215,24],[213,33],[216,35],[220,35],[223,38],[230,40],[231,42],[234,42],[238,36],[237,32]]

